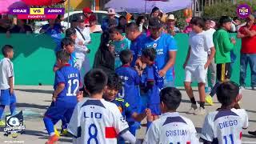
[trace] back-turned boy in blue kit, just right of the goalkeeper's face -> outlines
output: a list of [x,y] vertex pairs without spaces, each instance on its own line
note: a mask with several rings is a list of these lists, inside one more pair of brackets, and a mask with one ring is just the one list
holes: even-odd
[[[123,98],[126,102],[130,103],[130,107],[133,110],[138,112],[138,110],[140,110],[140,95],[138,90],[140,78],[138,72],[130,67],[132,59],[133,55],[130,50],[122,50],[120,53],[122,66],[118,67],[115,72],[123,82],[122,90],[118,93],[118,98]],[[126,121],[128,122],[132,133],[135,134],[138,126],[136,125],[136,122],[134,122],[134,118],[127,117]]]

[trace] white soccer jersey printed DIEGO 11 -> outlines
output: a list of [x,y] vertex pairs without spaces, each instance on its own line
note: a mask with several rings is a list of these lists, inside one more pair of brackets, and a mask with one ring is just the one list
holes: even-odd
[[201,138],[223,144],[242,143],[242,128],[248,127],[246,110],[214,111],[206,115]]

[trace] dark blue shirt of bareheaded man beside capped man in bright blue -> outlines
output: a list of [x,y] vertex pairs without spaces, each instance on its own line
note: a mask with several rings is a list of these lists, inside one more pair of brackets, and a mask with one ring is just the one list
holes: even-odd
[[146,38],[146,34],[140,34],[138,38],[130,43],[130,51],[133,54],[133,61],[131,62],[130,66],[134,67],[135,62],[138,59],[138,53],[142,49],[142,42],[143,39]]

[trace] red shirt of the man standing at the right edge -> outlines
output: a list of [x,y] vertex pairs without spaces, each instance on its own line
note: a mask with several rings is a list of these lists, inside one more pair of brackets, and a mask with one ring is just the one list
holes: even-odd
[[[239,29],[239,32],[241,34],[246,34],[246,31],[244,30],[246,26],[242,26]],[[250,27],[250,30],[256,31],[256,26],[253,25]],[[242,38],[242,49],[241,53],[243,54],[256,54],[256,35],[254,37],[246,37]]]

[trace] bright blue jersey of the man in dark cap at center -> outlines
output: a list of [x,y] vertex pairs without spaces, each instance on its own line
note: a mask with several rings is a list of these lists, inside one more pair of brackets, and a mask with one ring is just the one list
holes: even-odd
[[[166,66],[166,62],[169,60],[169,51],[178,50],[174,37],[164,33],[156,40],[150,37],[145,38],[142,42],[142,50],[146,48],[154,48],[157,51],[155,62],[156,66],[158,66],[158,70],[162,70],[164,66]],[[139,56],[141,56],[142,50],[138,53]],[[174,67],[166,72],[165,79],[167,82],[174,81]]]

